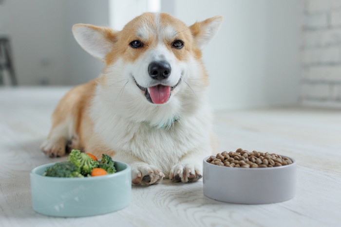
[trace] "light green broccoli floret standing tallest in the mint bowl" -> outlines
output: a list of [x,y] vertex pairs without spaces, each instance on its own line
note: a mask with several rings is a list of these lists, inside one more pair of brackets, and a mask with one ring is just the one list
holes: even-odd
[[98,167],[98,161],[76,149],[71,151],[69,161],[76,165],[82,175],[89,175],[94,168]]

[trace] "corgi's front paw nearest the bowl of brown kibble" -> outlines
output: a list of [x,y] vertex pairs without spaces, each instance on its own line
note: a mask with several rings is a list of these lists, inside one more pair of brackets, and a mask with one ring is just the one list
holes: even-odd
[[194,164],[179,163],[171,168],[170,180],[172,182],[194,182],[202,177],[201,171]]

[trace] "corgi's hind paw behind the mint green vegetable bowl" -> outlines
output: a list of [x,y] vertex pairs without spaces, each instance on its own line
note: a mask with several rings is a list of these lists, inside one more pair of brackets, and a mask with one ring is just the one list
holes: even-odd
[[66,139],[48,139],[41,144],[40,150],[49,157],[62,157],[65,155]]

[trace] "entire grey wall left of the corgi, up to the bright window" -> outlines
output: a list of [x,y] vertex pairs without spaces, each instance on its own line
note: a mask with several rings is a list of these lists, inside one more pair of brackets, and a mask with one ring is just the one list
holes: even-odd
[[71,28],[108,26],[108,0],[4,0],[0,13],[19,85],[76,85],[100,73],[102,63],[76,44]]

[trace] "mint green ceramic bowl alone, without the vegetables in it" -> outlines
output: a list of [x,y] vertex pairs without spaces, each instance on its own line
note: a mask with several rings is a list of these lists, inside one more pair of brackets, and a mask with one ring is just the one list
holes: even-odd
[[84,178],[43,176],[50,163],[31,171],[33,210],[59,217],[80,217],[110,213],[131,201],[131,168],[115,161],[116,173]]

